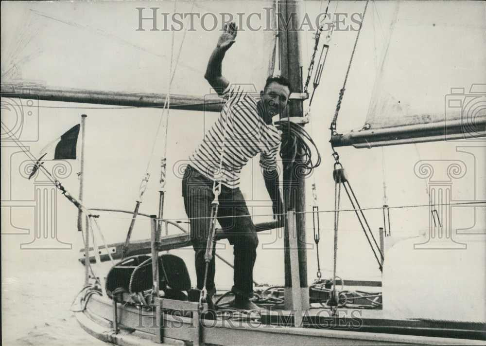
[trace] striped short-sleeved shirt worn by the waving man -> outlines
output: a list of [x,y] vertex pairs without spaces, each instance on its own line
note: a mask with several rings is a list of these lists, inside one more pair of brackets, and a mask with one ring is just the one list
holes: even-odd
[[226,103],[218,120],[208,129],[189,160],[192,166],[214,180],[223,151],[221,183],[234,189],[240,184],[243,166],[258,153],[261,168],[277,168],[280,131],[264,122],[257,110],[257,100],[241,86],[229,85],[221,97]]

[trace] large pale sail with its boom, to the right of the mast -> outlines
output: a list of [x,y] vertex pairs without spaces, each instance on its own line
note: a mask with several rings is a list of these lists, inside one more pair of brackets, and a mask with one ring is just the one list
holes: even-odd
[[486,134],[486,3],[397,2],[381,11],[381,65],[363,130],[347,134],[347,144]]

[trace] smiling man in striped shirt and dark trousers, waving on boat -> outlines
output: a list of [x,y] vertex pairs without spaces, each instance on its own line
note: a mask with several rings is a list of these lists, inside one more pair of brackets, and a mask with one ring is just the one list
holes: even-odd
[[[237,35],[234,23],[226,25],[225,32],[209,58],[205,78],[212,88],[226,100],[216,123],[207,131],[202,143],[190,155],[190,164],[182,180],[184,206],[191,222],[191,242],[195,250],[197,288],[203,289],[205,279],[205,252],[210,232],[211,202],[214,200],[213,184],[221,182],[218,197],[218,222],[228,233],[234,246],[234,286],[232,291],[235,308],[258,308],[249,298],[253,291],[253,266],[256,259],[258,237],[255,225],[239,188],[243,166],[260,154],[265,186],[273,201],[273,212],[279,221],[283,212],[278,190],[277,155],[280,132],[272,117],[287,106],[290,95],[289,82],[282,77],[269,77],[260,100],[243,88],[230,85],[222,76],[222,61]],[[215,293],[214,254],[209,264],[206,289],[208,304]]]

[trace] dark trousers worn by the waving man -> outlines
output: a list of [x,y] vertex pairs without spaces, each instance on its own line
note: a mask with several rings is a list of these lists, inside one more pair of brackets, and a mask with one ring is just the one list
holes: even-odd
[[[198,170],[188,165],[182,179],[182,196],[184,207],[191,223],[191,243],[195,251],[195,267],[197,288],[204,285],[206,262],[206,244],[210,232],[211,202],[213,181]],[[234,246],[234,286],[232,291],[243,297],[249,297],[253,292],[253,266],[257,257],[258,237],[255,225],[249,216],[248,208],[239,188],[230,189],[221,186],[219,195],[217,219],[223,231],[228,234],[228,240]],[[214,252],[208,268],[206,289],[215,291],[214,285]]]

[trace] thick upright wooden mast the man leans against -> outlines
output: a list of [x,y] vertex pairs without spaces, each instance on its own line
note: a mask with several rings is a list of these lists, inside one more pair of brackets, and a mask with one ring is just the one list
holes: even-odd
[[[282,0],[278,4],[279,56],[282,76],[287,77],[293,92],[302,92],[300,43],[297,25],[299,23],[298,1]],[[292,100],[282,117],[303,116],[302,99]],[[285,136],[285,134],[284,134]],[[283,160],[284,203],[287,210],[305,210],[305,181],[298,174],[298,164],[302,161],[301,150],[297,148],[295,163]],[[285,154],[285,153],[284,153]],[[292,308],[292,275],[289,252],[289,227],[284,227],[285,262],[285,307]],[[292,236],[292,235],[290,235]],[[296,215],[296,236],[298,240],[298,272],[300,276],[302,309],[309,308],[307,283],[307,255],[305,249],[305,215]]]

